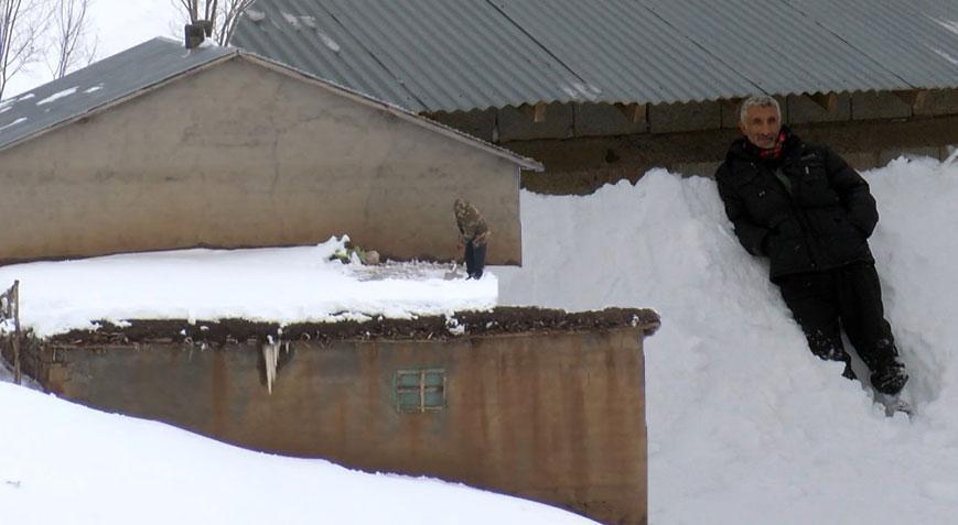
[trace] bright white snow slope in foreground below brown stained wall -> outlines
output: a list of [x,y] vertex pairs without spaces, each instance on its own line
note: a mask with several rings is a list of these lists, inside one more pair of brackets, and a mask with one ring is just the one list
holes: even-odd
[[9,525],[585,524],[546,505],[428,479],[251,452],[0,383]]

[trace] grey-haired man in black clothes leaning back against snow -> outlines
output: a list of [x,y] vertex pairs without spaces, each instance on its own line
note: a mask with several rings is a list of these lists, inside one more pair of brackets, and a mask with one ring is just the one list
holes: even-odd
[[772,281],[811,351],[843,361],[844,328],[871,371],[874,389],[896,396],[908,374],[884,319],[868,238],[879,221],[865,181],[835,152],[803,142],[782,125],[778,102],[742,102],[739,129],[715,173],[719,195],[749,253],[767,256]]

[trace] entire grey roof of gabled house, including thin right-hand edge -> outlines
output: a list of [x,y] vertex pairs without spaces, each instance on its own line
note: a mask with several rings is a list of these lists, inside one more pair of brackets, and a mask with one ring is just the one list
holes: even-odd
[[0,150],[30,140],[60,124],[73,122],[111,105],[142,95],[181,75],[234,56],[243,56],[262,66],[316,83],[338,95],[375,106],[417,125],[484,150],[524,169],[539,172],[543,169],[537,161],[271,58],[235,47],[216,45],[201,45],[187,51],[182,43],[164,37],[143,42],[61,79],[0,101]]

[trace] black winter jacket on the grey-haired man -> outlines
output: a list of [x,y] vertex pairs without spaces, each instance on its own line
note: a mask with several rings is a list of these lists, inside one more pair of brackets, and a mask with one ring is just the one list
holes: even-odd
[[760,158],[758,149],[742,138],[715,173],[739,241],[753,255],[768,256],[773,281],[874,263],[866,239],[879,214],[868,183],[828,147],[785,131],[781,161]]

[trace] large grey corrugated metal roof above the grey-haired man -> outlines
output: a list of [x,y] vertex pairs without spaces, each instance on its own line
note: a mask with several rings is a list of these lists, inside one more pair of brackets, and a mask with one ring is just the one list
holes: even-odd
[[958,87],[955,11],[954,0],[259,0],[233,43],[417,112],[661,103]]

